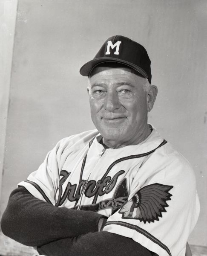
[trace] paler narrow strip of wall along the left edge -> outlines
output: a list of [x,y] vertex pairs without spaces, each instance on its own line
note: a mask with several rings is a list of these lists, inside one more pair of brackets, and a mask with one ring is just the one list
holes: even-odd
[[0,188],[3,173],[16,14],[17,0],[0,0]]

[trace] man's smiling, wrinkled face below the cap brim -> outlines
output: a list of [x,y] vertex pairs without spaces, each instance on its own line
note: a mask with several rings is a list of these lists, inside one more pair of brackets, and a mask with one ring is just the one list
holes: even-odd
[[103,139],[133,141],[147,126],[144,79],[127,67],[96,67],[89,77],[91,117]]

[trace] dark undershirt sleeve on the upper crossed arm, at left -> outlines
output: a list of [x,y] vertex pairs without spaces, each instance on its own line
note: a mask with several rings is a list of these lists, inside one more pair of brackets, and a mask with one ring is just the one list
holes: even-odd
[[22,244],[38,246],[57,239],[98,231],[103,215],[55,207],[35,198],[23,186],[15,189],[1,220],[2,232]]

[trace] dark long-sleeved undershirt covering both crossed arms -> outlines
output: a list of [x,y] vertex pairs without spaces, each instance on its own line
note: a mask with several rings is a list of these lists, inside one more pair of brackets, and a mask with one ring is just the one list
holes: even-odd
[[19,187],[10,195],[1,227],[6,236],[37,246],[46,256],[153,255],[132,239],[98,232],[101,217],[96,212],[55,207]]

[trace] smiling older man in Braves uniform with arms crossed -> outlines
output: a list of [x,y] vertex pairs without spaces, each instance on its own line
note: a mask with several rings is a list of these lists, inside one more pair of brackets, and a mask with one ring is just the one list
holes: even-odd
[[187,160],[147,123],[150,58],[123,36],[80,69],[97,130],[58,142],[10,196],[3,233],[47,256],[184,256],[199,202]]

